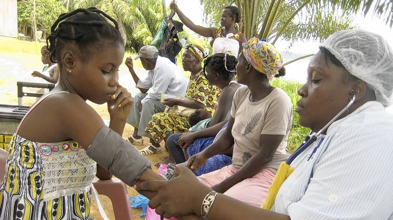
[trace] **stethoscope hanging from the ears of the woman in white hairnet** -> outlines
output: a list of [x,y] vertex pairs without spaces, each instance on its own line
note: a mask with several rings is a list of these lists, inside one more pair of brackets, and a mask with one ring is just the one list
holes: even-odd
[[[345,111],[348,110],[348,108],[351,107],[351,105],[355,102],[356,99],[356,95],[354,95],[350,102],[347,104],[347,106],[345,106],[345,108],[343,108],[336,116],[334,116],[321,130],[319,130],[317,133],[315,132],[310,132],[307,137],[303,140],[302,144],[298,147],[298,149],[293,152],[293,154],[286,160],[286,163],[288,165],[290,165],[290,163],[297,157],[299,156],[303,151],[305,151],[311,144],[313,144],[317,138],[322,134],[323,131],[325,131],[342,113],[344,113]],[[319,141],[319,143],[317,144],[317,146],[314,148],[313,152],[310,154],[310,156],[308,157],[308,160],[310,160],[310,158],[312,158],[312,156],[314,155],[314,153],[317,151],[317,149],[319,148],[319,146],[322,144],[323,141],[323,137],[321,138],[321,140]]]

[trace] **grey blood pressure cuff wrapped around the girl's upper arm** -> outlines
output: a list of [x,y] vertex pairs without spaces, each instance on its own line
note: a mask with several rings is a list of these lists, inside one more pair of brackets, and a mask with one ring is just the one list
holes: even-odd
[[129,186],[152,168],[133,145],[105,125],[95,134],[86,154]]

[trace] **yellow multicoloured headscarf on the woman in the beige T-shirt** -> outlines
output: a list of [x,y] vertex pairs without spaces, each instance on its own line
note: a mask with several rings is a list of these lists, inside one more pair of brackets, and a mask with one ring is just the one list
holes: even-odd
[[256,37],[243,44],[245,59],[269,80],[273,79],[282,67],[282,57],[275,46]]

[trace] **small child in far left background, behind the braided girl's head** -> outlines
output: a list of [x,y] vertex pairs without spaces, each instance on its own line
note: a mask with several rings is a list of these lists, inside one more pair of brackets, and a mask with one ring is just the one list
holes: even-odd
[[47,66],[42,69],[42,73],[34,71],[31,75],[33,77],[39,77],[50,83],[56,84],[59,80],[59,68],[56,63],[52,63],[52,61],[49,59],[50,56],[51,52],[48,50],[47,46],[43,46],[41,48],[41,61],[42,64]]

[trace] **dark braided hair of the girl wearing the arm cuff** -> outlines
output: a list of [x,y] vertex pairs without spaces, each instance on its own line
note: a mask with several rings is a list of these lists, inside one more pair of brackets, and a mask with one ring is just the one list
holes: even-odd
[[55,21],[51,27],[51,34],[46,38],[47,48],[51,51],[51,62],[62,65],[61,51],[67,43],[78,48],[79,51],[76,52],[82,62],[87,61],[92,53],[92,47],[100,50],[108,43],[124,45],[116,20],[93,7],[61,14]]

